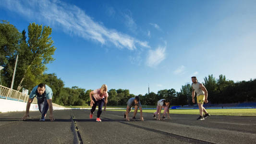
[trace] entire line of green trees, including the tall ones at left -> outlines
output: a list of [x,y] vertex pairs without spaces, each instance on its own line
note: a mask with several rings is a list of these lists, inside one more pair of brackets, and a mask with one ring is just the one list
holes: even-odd
[[[7,21],[0,22],[0,83],[10,87],[12,74],[17,55],[18,65],[16,68],[13,89],[22,91],[22,88],[32,88],[44,83],[53,91],[52,100],[62,106],[81,106],[90,103],[89,93],[91,89],[64,87],[64,82],[55,73],[45,73],[46,64],[54,61],[53,55],[56,48],[51,39],[52,29],[35,23],[28,25],[28,31],[21,33]],[[205,87],[208,91],[208,101],[212,104],[219,103],[242,103],[256,101],[256,79],[250,81],[233,82],[226,80],[225,75],[219,78],[208,75],[204,78]],[[134,97],[128,89],[110,89],[108,91],[108,105],[126,105],[129,98]],[[159,90],[139,95],[142,105],[156,105],[159,99],[171,100],[171,105],[193,105],[191,84],[182,85],[181,91],[175,89]]]

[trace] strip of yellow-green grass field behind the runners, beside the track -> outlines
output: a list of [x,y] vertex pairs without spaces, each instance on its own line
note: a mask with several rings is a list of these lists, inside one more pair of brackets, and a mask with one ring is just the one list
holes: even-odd
[[[109,111],[125,111],[125,109],[108,109]],[[134,110],[132,110],[133,112]],[[139,111],[139,110],[138,110]],[[143,112],[153,113],[156,109],[144,109]],[[256,109],[207,109],[211,115],[224,116],[256,116]],[[161,111],[163,113],[163,109]],[[199,109],[170,109],[170,114],[199,114]]]

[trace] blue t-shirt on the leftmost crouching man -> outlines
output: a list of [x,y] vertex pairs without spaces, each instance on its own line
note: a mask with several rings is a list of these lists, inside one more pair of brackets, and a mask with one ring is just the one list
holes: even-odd
[[43,95],[38,94],[37,87],[38,87],[38,85],[32,89],[32,91],[29,95],[29,98],[33,99],[35,96],[37,96],[37,98],[40,98],[40,99],[43,99],[43,98],[51,99],[52,98],[52,90],[48,85],[45,84],[45,92],[43,93]]

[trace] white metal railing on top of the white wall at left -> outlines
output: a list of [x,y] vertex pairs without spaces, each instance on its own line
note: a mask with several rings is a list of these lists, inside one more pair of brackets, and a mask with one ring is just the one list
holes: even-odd
[[[0,98],[27,102],[28,97],[29,95],[23,94],[11,88],[0,85]],[[34,98],[32,103],[37,104],[37,98]]]

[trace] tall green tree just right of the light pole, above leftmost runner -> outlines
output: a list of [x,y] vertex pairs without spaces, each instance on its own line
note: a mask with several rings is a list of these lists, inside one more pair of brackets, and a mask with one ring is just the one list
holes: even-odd
[[15,77],[18,81],[18,91],[24,86],[31,88],[36,85],[37,79],[40,79],[47,69],[46,64],[54,60],[52,55],[56,48],[52,46],[51,31],[49,26],[29,24],[27,43],[24,42],[23,36],[23,45],[19,49],[20,62],[17,72],[22,74],[20,77]]

